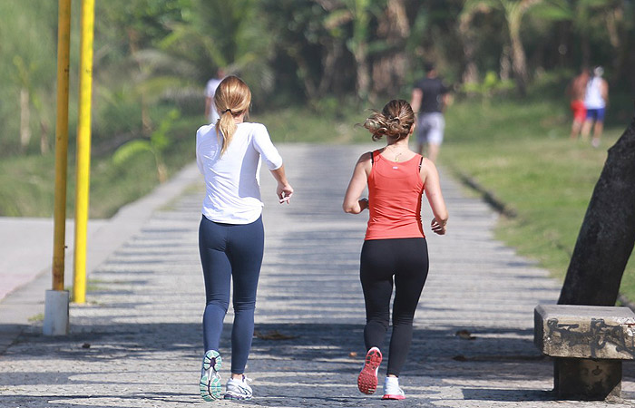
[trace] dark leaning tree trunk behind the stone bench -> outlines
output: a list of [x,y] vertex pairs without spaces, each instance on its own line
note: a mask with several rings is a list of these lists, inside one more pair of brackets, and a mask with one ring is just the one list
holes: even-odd
[[591,196],[561,305],[614,306],[635,244],[635,117],[612,147]]

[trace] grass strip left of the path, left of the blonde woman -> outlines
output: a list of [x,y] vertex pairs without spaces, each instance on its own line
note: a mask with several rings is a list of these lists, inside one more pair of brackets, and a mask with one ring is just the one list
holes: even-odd
[[[181,118],[171,126],[171,142],[163,151],[169,176],[194,160],[194,132],[200,118]],[[75,156],[68,154],[68,217],[73,217]],[[0,216],[52,217],[55,180],[54,153],[16,156],[0,160]],[[93,156],[89,216],[112,217],[123,205],[139,199],[159,184],[155,158],[141,151],[120,164],[111,154]]]

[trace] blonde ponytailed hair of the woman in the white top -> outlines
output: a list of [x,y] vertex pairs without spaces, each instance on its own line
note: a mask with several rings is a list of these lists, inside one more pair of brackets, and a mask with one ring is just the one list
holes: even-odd
[[214,94],[214,104],[219,111],[220,119],[216,121],[216,134],[222,137],[220,155],[227,151],[237,126],[234,117],[249,113],[251,91],[249,86],[238,76],[230,75],[222,80]]

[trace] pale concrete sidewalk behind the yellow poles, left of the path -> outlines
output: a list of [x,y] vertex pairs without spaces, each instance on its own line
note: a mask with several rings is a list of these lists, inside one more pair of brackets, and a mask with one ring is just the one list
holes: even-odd
[[[120,209],[112,219],[88,223],[89,279],[117,248],[139,233],[152,213],[200,180],[195,164]],[[0,218],[0,354],[29,325],[44,316],[44,294],[52,287],[53,219]],[[73,287],[73,219],[66,223],[64,287]],[[90,283],[90,282],[89,282]]]

